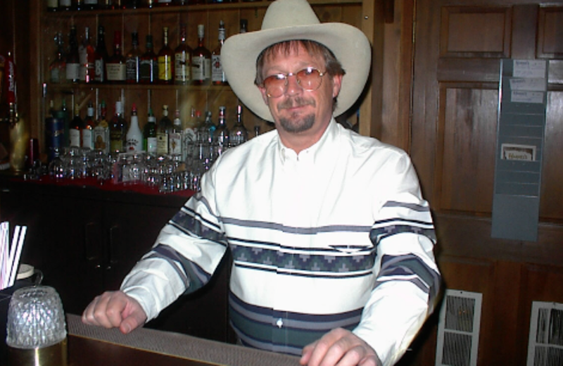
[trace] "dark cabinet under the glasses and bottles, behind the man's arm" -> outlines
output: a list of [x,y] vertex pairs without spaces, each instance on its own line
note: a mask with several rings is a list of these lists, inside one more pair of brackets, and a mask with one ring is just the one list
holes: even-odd
[[[21,262],[42,270],[43,283],[58,291],[66,313],[80,314],[95,296],[119,289],[186,199],[4,182],[0,219],[27,226]],[[147,327],[232,341],[229,262],[227,256],[208,286],[180,296]]]

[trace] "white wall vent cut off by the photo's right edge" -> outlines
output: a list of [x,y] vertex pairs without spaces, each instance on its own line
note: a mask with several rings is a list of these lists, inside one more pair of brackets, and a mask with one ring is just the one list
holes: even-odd
[[533,301],[526,366],[563,365],[563,304]]

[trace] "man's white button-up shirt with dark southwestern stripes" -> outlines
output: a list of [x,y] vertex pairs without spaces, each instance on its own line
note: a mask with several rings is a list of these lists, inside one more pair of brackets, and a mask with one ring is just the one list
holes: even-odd
[[407,154],[332,120],[299,154],[272,131],[220,156],[122,289],[151,319],[229,249],[243,344],[301,354],[343,327],[391,365],[433,310],[434,242]]

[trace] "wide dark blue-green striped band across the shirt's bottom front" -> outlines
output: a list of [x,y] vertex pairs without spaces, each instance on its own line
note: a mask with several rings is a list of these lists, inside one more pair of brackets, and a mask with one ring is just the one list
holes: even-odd
[[234,294],[229,295],[229,311],[232,326],[243,344],[295,355],[301,354],[305,344],[320,339],[331,329],[354,329],[362,314],[362,309],[329,315],[277,311],[245,303]]

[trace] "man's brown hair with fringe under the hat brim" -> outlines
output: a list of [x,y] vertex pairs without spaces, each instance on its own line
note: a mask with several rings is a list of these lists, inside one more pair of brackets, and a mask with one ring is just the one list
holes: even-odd
[[256,58],[256,78],[254,83],[260,86],[262,82],[264,82],[262,69],[264,68],[265,60],[273,58],[277,53],[287,56],[291,51],[296,51],[299,46],[303,46],[303,49],[305,49],[310,56],[320,56],[324,59],[324,70],[320,71],[327,72],[330,76],[346,74],[340,61],[336,59],[334,53],[327,49],[326,46],[308,39],[295,39],[272,44],[272,46],[267,47],[258,55],[258,58]]

